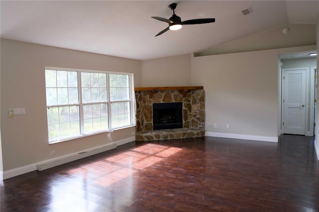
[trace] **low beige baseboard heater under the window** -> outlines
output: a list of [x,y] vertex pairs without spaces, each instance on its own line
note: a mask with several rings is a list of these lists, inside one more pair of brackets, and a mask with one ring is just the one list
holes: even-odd
[[85,157],[89,157],[91,155],[95,155],[101,152],[105,152],[111,149],[115,149],[117,147],[116,143],[114,144],[108,144],[108,145],[104,145],[104,146],[99,146],[96,148],[92,148],[92,149],[87,149],[84,150],[82,152],[76,152],[74,154],[70,154],[70,155],[65,155],[62,157],[58,157],[58,158],[53,158],[50,160],[46,160],[43,161],[41,163],[36,164],[36,170],[38,171],[43,171],[45,169],[49,169],[55,166],[59,166],[65,163],[69,163],[72,161],[76,161]]

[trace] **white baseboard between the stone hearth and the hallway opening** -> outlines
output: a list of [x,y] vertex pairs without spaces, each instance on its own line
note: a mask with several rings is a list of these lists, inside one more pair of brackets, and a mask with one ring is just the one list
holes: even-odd
[[256,141],[268,141],[268,142],[278,142],[278,137],[258,136],[258,135],[243,135],[243,134],[220,133],[220,132],[206,132],[205,136],[221,137],[221,138],[236,138],[236,139],[256,140]]

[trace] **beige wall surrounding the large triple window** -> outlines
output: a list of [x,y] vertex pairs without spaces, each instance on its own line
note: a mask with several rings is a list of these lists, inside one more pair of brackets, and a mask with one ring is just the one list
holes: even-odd
[[[1,39],[3,171],[127,139],[135,131],[130,127],[48,144],[45,66],[134,73],[135,86],[141,86],[141,61]],[[8,109],[19,107],[26,114],[9,118]]]

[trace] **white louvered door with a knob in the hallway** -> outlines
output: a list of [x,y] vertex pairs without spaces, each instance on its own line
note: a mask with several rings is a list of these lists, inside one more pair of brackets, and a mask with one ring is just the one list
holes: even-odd
[[284,71],[284,133],[305,135],[306,69]]

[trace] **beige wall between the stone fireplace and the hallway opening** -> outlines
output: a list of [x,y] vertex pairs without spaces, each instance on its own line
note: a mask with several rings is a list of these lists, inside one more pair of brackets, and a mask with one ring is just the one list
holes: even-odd
[[211,123],[211,127],[206,124],[206,133],[277,138],[278,54],[314,49],[316,46],[193,57],[192,84],[204,86],[206,123]]

